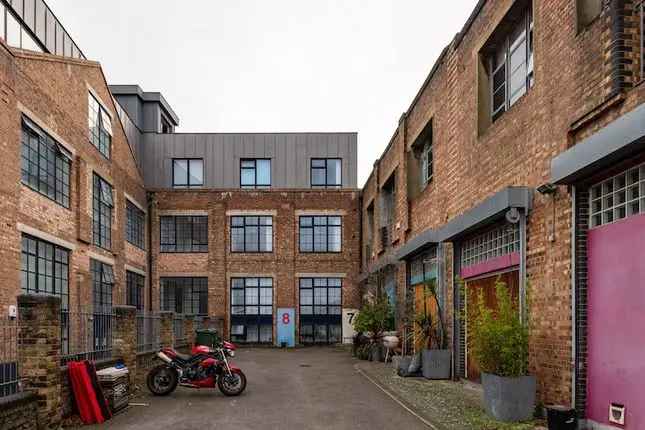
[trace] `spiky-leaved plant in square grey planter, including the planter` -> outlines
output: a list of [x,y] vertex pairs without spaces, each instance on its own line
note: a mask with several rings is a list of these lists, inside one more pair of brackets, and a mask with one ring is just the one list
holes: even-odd
[[[428,309],[428,299],[435,312]],[[436,281],[428,280],[423,285],[423,310],[414,321],[412,335],[421,345],[421,371],[427,379],[450,379],[451,352],[447,348],[443,311],[437,297]]]

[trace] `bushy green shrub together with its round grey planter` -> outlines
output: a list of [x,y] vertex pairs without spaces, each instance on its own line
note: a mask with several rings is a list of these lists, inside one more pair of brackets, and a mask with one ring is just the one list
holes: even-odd
[[479,293],[471,352],[482,372],[486,412],[500,421],[525,421],[533,415],[536,386],[528,374],[529,328],[506,284],[498,280],[495,292],[496,309]]

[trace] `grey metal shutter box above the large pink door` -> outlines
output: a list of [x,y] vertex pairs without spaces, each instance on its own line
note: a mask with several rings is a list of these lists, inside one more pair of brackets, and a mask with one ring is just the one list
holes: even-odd
[[645,104],[551,160],[551,182],[574,184],[645,146]]

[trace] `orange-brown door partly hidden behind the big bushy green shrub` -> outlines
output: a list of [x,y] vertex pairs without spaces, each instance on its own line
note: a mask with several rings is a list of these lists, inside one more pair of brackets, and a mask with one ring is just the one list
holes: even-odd
[[466,378],[477,383],[481,381],[481,372],[479,365],[469,354],[471,344],[470,328],[473,319],[477,315],[477,300],[480,292],[483,294],[484,303],[488,308],[495,309],[497,307],[495,284],[498,279],[506,283],[506,286],[511,290],[511,296],[517,300],[520,286],[519,272],[517,270],[495,274],[486,278],[466,280],[466,293],[468,295],[466,297]]

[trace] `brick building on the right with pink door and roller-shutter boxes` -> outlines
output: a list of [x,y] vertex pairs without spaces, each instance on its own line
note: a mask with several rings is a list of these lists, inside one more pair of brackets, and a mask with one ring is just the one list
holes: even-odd
[[540,401],[598,428],[612,405],[645,425],[642,313],[626,313],[644,306],[642,16],[631,1],[479,1],[362,195],[360,281],[395,301],[400,329],[435,279],[453,374],[478,381],[468,303],[501,278],[530,322]]

